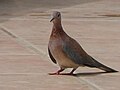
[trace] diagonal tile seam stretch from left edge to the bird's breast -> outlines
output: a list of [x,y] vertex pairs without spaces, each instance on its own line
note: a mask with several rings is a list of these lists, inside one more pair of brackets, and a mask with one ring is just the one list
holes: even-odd
[[[28,48],[30,50],[32,50],[33,52],[35,52],[36,54],[39,54],[42,56],[42,58],[46,58],[46,53],[37,48],[36,46],[34,46],[33,44],[31,44],[30,42],[28,42],[27,40],[25,40],[24,38],[16,35],[15,33],[13,33],[11,30],[8,30],[7,28],[5,28],[4,26],[0,26],[0,29],[6,33],[7,35],[11,36],[12,38],[14,38],[16,40],[16,42],[18,42],[20,45],[22,45],[25,48]],[[48,56],[47,56],[48,57]],[[48,59],[48,58],[46,58]]]

